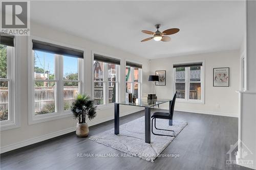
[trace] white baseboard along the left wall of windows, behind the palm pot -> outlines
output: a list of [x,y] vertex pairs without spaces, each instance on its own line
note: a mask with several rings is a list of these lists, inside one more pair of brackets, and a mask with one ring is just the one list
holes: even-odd
[[[138,112],[138,111],[141,111],[141,110],[144,110],[144,109],[139,108],[139,109],[123,112],[123,113],[120,113],[120,117],[131,114],[131,113],[135,113],[135,112]],[[100,120],[92,121],[92,122],[88,123],[88,125],[93,126],[93,125],[97,125],[97,124],[100,124],[100,123],[103,123],[103,122],[106,122],[106,121],[109,121],[109,120],[112,120],[112,119],[114,119],[114,115],[106,117],[106,118],[102,118]],[[0,149],[0,153],[2,154],[2,153],[12,151],[12,150],[15,150],[15,149],[18,149],[18,148],[26,147],[27,145],[30,145],[30,144],[41,142],[41,141],[51,139],[51,138],[54,138],[54,137],[57,137],[57,136],[60,136],[60,135],[64,135],[64,134],[67,134],[67,133],[70,133],[70,132],[74,132],[75,130],[76,130],[76,127],[72,127],[72,128],[68,128],[68,129],[65,129],[65,130],[60,130],[60,131],[52,132],[52,133],[49,133],[49,134],[46,134],[46,135],[34,137],[34,138],[31,138],[31,139],[28,139],[28,140],[20,141],[20,142],[17,142],[17,143],[9,144],[5,147],[2,147]]]

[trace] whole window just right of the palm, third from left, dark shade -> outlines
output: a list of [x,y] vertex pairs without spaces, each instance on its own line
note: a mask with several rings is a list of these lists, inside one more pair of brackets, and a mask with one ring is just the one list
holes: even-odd
[[94,101],[96,105],[118,102],[120,60],[94,54]]

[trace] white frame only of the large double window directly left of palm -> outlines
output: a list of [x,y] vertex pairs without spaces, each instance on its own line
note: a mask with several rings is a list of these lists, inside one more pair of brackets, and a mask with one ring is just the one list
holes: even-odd
[[[43,82],[49,81],[49,82],[55,82],[55,108],[56,112],[54,113],[47,113],[47,114],[40,114],[40,115],[35,115],[35,94],[34,94],[34,55],[33,55],[33,50],[32,50],[32,39],[38,40],[38,41],[43,41],[43,42],[48,42],[60,46],[66,46],[70,48],[75,48],[77,50],[83,51],[83,59],[78,58],[78,80],[71,80],[72,82],[79,82],[78,85],[78,92],[79,93],[84,93],[83,89],[84,87],[84,59],[85,59],[85,53],[86,50],[84,48],[80,48],[77,46],[69,45],[69,44],[64,44],[56,41],[51,41],[48,39],[40,38],[40,37],[34,37],[31,36],[29,38],[29,44],[28,44],[28,93],[29,93],[29,101],[28,101],[28,110],[29,110],[29,116],[28,116],[28,122],[29,125],[32,124],[37,124],[37,123],[42,123],[42,122],[48,122],[51,120],[55,119],[60,119],[63,117],[70,117],[72,116],[72,112],[70,110],[64,110],[64,100],[63,100],[63,57],[61,55],[55,54],[55,80],[42,80]],[[37,80],[38,81],[38,80]]]

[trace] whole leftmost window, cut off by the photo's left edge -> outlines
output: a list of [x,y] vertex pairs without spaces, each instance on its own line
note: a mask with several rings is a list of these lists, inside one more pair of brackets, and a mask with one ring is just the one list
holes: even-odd
[[[19,62],[15,57],[17,47],[14,47],[14,37],[1,35],[0,40],[0,125],[1,130],[7,130],[19,126]],[[18,42],[17,39],[15,42]]]

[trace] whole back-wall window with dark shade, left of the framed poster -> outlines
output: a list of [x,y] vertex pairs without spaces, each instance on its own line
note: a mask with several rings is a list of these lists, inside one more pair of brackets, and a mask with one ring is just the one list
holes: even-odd
[[178,101],[203,103],[203,63],[174,65],[175,91]]

